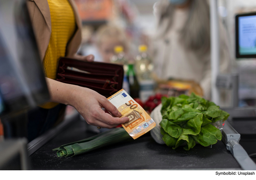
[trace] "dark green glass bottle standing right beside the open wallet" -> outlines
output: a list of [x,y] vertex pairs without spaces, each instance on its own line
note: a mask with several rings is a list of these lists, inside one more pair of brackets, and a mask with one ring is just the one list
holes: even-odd
[[133,64],[128,64],[127,78],[130,88],[130,96],[132,98],[139,98],[140,85],[138,83]]

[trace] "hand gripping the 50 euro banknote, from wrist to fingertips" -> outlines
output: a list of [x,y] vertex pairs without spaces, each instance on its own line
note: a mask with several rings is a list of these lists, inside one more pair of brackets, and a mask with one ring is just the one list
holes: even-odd
[[[76,86],[70,99],[70,105],[76,108],[89,125],[111,129],[129,121],[128,117],[120,118],[122,114],[117,108],[104,96],[91,89]],[[114,117],[101,108],[105,108]]]

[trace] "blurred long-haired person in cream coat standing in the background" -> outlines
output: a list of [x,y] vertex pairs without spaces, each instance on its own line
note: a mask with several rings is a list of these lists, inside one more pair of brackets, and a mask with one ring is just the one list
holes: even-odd
[[[210,8],[206,0],[161,0],[154,38],[155,70],[159,78],[194,80],[211,98]],[[222,25],[222,24],[221,24]],[[220,26],[220,72],[230,71],[227,36]]]

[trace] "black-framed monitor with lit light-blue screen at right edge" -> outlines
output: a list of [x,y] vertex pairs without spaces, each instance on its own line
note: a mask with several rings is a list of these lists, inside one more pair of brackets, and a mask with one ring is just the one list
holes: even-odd
[[256,13],[236,16],[236,57],[256,58]]

